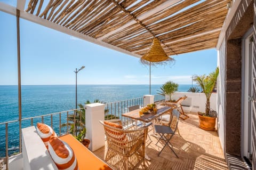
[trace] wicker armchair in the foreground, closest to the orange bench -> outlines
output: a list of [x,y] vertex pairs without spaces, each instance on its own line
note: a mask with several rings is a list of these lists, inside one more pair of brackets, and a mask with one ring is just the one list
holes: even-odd
[[[122,125],[121,120],[108,120]],[[115,169],[135,169],[140,163],[145,165],[145,144],[148,127],[125,130],[100,121],[107,137],[105,161]]]

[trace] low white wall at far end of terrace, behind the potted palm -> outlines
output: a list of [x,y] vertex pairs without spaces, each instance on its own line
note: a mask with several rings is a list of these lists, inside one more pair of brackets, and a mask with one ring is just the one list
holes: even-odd
[[[185,112],[189,112],[189,111],[205,112],[206,97],[204,93],[175,92],[171,96],[171,98],[177,100],[185,95],[188,98],[181,103],[182,105],[185,105],[185,106],[182,106]],[[166,99],[169,99],[169,96],[166,96]],[[217,94],[216,93],[212,93],[211,95],[210,107],[213,110],[217,110]]]

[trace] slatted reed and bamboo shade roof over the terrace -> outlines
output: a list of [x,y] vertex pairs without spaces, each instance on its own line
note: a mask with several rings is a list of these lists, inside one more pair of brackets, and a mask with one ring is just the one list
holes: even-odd
[[30,0],[26,12],[144,55],[157,37],[169,56],[214,48],[230,0]]

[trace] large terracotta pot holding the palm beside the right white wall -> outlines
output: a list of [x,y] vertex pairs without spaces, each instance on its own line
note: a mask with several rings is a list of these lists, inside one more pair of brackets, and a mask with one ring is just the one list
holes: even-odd
[[215,131],[216,117],[207,117],[198,114],[199,127],[206,131]]

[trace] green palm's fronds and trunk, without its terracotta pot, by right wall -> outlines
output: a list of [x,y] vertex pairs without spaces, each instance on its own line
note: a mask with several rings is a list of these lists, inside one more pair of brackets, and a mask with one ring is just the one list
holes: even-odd
[[217,67],[215,71],[211,72],[209,76],[202,75],[202,76],[195,76],[193,79],[198,85],[201,86],[205,96],[206,96],[206,103],[205,103],[205,115],[209,116],[210,111],[210,98],[217,81],[219,75],[219,68]]

